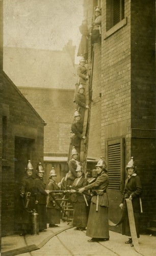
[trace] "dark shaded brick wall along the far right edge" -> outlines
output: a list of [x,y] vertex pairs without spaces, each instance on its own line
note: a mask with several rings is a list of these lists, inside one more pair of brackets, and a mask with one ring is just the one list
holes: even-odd
[[156,214],[155,1],[132,1],[131,61],[132,152],[139,160],[147,222]]

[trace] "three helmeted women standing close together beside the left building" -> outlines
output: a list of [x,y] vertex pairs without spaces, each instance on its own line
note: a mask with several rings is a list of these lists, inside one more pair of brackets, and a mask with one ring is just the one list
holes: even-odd
[[39,163],[36,172],[29,160],[25,174],[20,181],[20,197],[21,197],[21,232],[20,236],[32,232],[31,213],[38,213],[39,232],[46,231],[47,223],[49,227],[56,227],[60,223],[60,208],[51,198],[50,190],[59,190],[60,187],[56,183],[57,174],[52,168],[49,174],[49,184],[43,181],[44,170]]

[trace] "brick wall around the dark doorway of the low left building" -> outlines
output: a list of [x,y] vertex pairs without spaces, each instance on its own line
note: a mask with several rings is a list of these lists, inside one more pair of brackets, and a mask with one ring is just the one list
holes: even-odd
[[[27,100],[14,86],[7,76],[3,77],[3,115],[7,116],[7,140],[5,159],[3,159],[2,172],[2,235],[6,236],[14,232],[14,216],[18,208],[15,201],[16,190],[15,176],[24,174],[24,162],[15,159],[15,138],[29,138],[34,141],[31,150],[31,161],[36,167],[37,162],[43,162],[43,129],[44,123]],[[24,159],[27,163],[28,159]],[[15,172],[15,163],[19,163],[19,170]],[[18,182],[19,182],[19,178]]]

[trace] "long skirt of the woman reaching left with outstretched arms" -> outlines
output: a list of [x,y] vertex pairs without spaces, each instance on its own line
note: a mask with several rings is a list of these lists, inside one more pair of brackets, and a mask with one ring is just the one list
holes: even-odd
[[108,207],[91,202],[86,236],[91,238],[109,238]]

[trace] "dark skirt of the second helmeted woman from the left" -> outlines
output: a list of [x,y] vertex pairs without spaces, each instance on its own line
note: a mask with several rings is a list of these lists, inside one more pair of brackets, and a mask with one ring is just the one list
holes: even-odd
[[43,230],[47,228],[46,225],[46,205],[45,204],[37,204],[36,210],[38,213],[38,220],[39,220],[39,230]]

